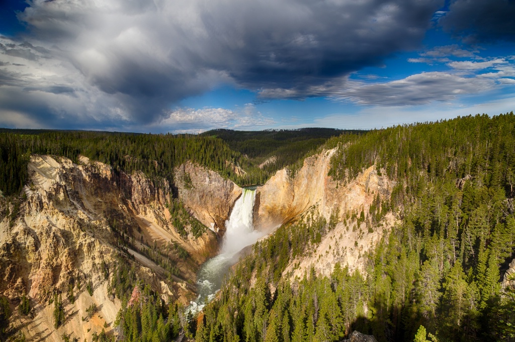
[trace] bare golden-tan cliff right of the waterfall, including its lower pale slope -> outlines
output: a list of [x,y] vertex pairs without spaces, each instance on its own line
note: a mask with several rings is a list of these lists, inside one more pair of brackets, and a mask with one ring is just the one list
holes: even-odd
[[[328,221],[333,215],[336,228],[325,236],[310,257],[295,260],[286,269],[300,276],[314,266],[316,271],[328,275],[336,262],[350,269],[362,268],[362,255],[380,240],[385,228],[395,219],[386,215],[381,226],[371,226],[370,220],[359,222],[361,212],[368,213],[375,198],[389,198],[392,182],[369,167],[346,184],[328,176],[331,157],[335,149],[325,150],[306,158],[295,175],[287,169],[279,170],[256,193],[254,226],[272,231],[291,220],[303,219],[310,212]],[[323,258],[322,258],[323,257]],[[297,266],[294,266],[296,265]]]

